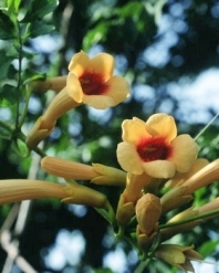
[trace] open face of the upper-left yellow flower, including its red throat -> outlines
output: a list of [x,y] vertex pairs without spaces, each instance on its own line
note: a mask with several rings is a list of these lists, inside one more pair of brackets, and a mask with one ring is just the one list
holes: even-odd
[[114,57],[107,53],[90,59],[81,51],[73,55],[69,70],[66,90],[76,103],[105,109],[129,96],[126,80],[113,75]]

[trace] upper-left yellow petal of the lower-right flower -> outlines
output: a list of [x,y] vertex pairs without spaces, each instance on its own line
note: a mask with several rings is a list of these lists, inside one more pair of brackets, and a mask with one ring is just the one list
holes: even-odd
[[125,119],[122,124],[123,140],[137,145],[144,137],[150,137],[147,133],[145,123],[137,117]]

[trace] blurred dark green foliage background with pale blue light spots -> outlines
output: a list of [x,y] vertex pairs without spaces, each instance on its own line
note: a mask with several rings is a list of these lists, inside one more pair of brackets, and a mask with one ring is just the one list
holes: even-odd
[[[8,1],[10,2],[13,1]],[[0,0],[0,7],[4,8],[6,1]],[[218,69],[217,0],[23,0],[19,10],[11,6],[10,12],[10,15],[3,9],[0,12],[1,119],[12,125],[17,120],[18,94],[14,86],[18,81],[23,83],[31,78],[64,75],[72,55],[80,50],[90,55],[102,51],[113,54],[116,73],[125,76],[132,86],[132,97],[112,109],[95,111],[81,106],[61,117],[54,133],[44,143],[43,149],[48,155],[118,167],[115,150],[121,141],[123,119],[133,116],[146,119],[154,113],[166,112],[175,116],[179,133],[189,133],[195,137],[217,114],[218,109],[209,105],[202,109],[206,118],[199,118],[196,112],[199,96],[195,102],[186,101],[187,106],[192,106],[181,109],[181,103],[185,103],[182,87],[189,86],[205,71]],[[20,20],[19,29],[17,15]],[[18,33],[21,33],[22,41],[18,39]],[[22,62],[18,61],[19,56]],[[25,101],[22,84],[20,92],[22,104]],[[209,90],[209,97],[212,96]],[[24,134],[53,95],[49,92],[46,95],[31,96],[22,125]],[[13,136],[2,127],[0,134],[0,178],[25,178],[31,157],[24,157],[23,144],[14,143]],[[216,159],[219,155],[218,123],[211,125],[197,141],[200,146],[199,156]],[[42,170],[39,170],[38,178],[59,180]],[[119,189],[97,188],[116,206]],[[199,190],[196,202],[205,203],[218,196],[218,183]],[[10,208],[11,206],[0,208],[0,224]],[[219,220],[215,219],[177,240],[185,245],[194,243],[201,254],[211,254],[218,260],[219,254],[215,251],[219,242],[218,227]],[[70,246],[67,249],[62,245],[64,256],[55,267],[55,260],[50,258],[51,253],[54,254],[54,249],[58,249],[59,235],[69,238],[71,242],[72,238],[76,238],[74,232],[77,232],[77,238],[84,238],[84,241],[77,242],[84,243],[81,256],[73,262],[71,256],[77,254]],[[86,273],[92,267],[96,269],[96,273],[109,273],[109,269],[101,269],[104,256],[118,250],[118,246],[126,258],[125,267],[118,273],[133,272],[137,263],[136,255],[128,245],[123,242],[116,244],[116,240],[112,239],[112,231],[95,210],[83,206],[75,208],[60,204],[55,200],[31,202],[25,229],[19,241],[22,255],[39,272]],[[72,244],[75,244],[74,240]],[[6,253],[1,250],[0,267],[4,260]],[[166,266],[153,262],[145,272],[170,270]],[[20,271],[14,267],[12,272]]]

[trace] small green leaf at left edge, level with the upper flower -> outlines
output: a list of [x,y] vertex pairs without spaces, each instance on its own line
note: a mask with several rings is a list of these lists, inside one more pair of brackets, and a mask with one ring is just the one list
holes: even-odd
[[17,102],[17,87],[4,84],[0,88],[0,106],[9,106]]

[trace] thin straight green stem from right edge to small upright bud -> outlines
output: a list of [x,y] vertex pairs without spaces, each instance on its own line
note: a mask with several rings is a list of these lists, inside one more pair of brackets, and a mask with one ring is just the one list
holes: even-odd
[[180,225],[180,224],[184,224],[184,223],[189,223],[189,222],[192,222],[192,221],[196,221],[196,220],[204,220],[206,218],[213,217],[213,216],[217,216],[217,214],[219,214],[219,209],[211,210],[209,212],[205,212],[205,213],[201,213],[201,214],[198,214],[198,216],[194,216],[194,217],[190,217],[188,219],[184,219],[181,221],[170,222],[170,223],[165,223],[165,224],[159,224],[158,228],[160,230],[161,229],[167,229],[167,228]]

